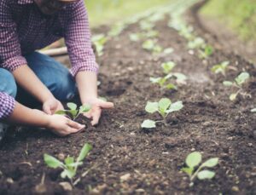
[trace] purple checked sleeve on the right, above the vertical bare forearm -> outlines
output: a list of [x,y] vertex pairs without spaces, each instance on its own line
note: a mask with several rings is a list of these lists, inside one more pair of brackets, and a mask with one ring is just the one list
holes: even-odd
[[66,10],[69,15],[64,26],[64,38],[71,60],[71,73],[98,72],[96,57],[91,47],[90,27],[84,1],[72,3]]

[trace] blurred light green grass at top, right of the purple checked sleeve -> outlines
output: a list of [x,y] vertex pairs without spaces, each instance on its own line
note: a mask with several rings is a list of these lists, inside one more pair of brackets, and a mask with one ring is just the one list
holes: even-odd
[[[109,25],[174,0],[85,0],[90,26]],[[176,0],[177,1],[177,0]]]

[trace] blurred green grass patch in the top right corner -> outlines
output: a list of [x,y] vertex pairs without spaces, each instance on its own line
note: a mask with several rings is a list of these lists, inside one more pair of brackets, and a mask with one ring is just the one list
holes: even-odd
[[201,14],[227,24],[244,41],[256,41],[256,0],[210,0]]

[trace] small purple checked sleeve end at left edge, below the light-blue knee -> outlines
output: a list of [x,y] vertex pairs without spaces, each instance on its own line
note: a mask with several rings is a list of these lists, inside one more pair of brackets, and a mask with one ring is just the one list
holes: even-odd
[[0,92],[0,119],[8,118],[15,110],[15,99],[3,92]]

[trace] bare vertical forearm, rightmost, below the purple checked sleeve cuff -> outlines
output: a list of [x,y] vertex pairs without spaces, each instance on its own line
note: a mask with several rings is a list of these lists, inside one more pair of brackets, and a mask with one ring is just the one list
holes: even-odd
[[83,104],[97,98],[97,76],[96,72],[79,72],[76,76],[79,88],[80,100]]

